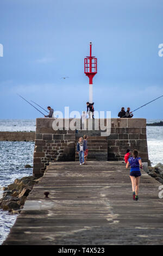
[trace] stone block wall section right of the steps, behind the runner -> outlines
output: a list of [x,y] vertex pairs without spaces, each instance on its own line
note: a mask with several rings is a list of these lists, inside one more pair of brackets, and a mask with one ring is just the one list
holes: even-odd
[[139,150],[142,161],[148,162],[146,119],[111,120],[111,134],[108,136],[108,161],[123,160],[127,149]]

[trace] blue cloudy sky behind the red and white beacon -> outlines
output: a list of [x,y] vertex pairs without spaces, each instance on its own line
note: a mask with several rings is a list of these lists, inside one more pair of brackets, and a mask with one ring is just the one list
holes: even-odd
[[[85,111],[90,41],[96,111],[116,118],[121,107],[134,110],[163,95],[162,12],[162,0],[1,0],[0,118],[43,117],[17,94],[43,108]],[[163,119],[162,103],[134,117]]]

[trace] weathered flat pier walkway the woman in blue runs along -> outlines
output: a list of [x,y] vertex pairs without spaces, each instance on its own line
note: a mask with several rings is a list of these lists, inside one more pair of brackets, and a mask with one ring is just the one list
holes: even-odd
[[3,245],[163,245],[160,185],[142,170],[134,201],[120,161],[50,162]]

